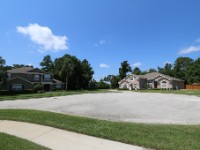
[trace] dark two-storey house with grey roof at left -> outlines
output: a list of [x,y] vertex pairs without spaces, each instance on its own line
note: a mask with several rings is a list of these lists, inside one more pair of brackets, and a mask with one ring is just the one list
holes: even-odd
[[53,79],[53,75],[39,68],[21,67],[7,71],[7,81],[0,89],[8,91],[33,90],[35,84],[41,84],[44,91],[64,88],[64,83]]

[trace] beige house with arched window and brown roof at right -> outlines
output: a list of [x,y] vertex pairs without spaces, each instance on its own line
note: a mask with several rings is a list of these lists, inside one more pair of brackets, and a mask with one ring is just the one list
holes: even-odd
[[120,89],[184,89],[185,84],[181,79],[176,79],[158,72],[145,75],[128,75],[119,82]]

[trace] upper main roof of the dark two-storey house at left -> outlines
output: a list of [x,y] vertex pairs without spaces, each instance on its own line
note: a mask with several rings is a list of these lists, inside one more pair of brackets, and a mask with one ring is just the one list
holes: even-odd
[[39,68],[32,67],[21,67],[16,69],[11,69],[7,71],[8,73],[45,73],[43,70]]

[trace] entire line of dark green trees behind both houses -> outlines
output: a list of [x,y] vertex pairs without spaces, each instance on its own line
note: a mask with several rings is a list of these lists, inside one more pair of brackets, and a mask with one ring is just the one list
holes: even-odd
[[[27,67],[29,65],[13,64],[6,66],[6,61],[0,56],[0,76],[6,80],[6,71],[12,68]],[[96,89],[96,88],[118,88],[118,82],[127,74],[144,75],[150,72],[159,72],[185,81],[185,84],[200,83],[200,58],[178,57],[173,64],[166,63],[164,67],[141,70],[139,67],[131,68],[127,60],[122,61],[117,75],[108,75],[99,82],[93,79],[93,68],[84,59],[66,54],[55,60],[50,55],[44,56],[40,63],[41,69],[52,73],[55,79],[66,83],[66,89]],[[29,66],[30,67],[30,66]],[[31,66],[33,67],[33,66]]]

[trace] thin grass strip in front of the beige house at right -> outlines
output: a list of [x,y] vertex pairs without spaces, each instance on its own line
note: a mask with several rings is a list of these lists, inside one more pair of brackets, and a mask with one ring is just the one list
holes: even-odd
[[184,94],[184,95],[200,96],[200,90],[134,90],[133,92],[164,93],[164,94]]

